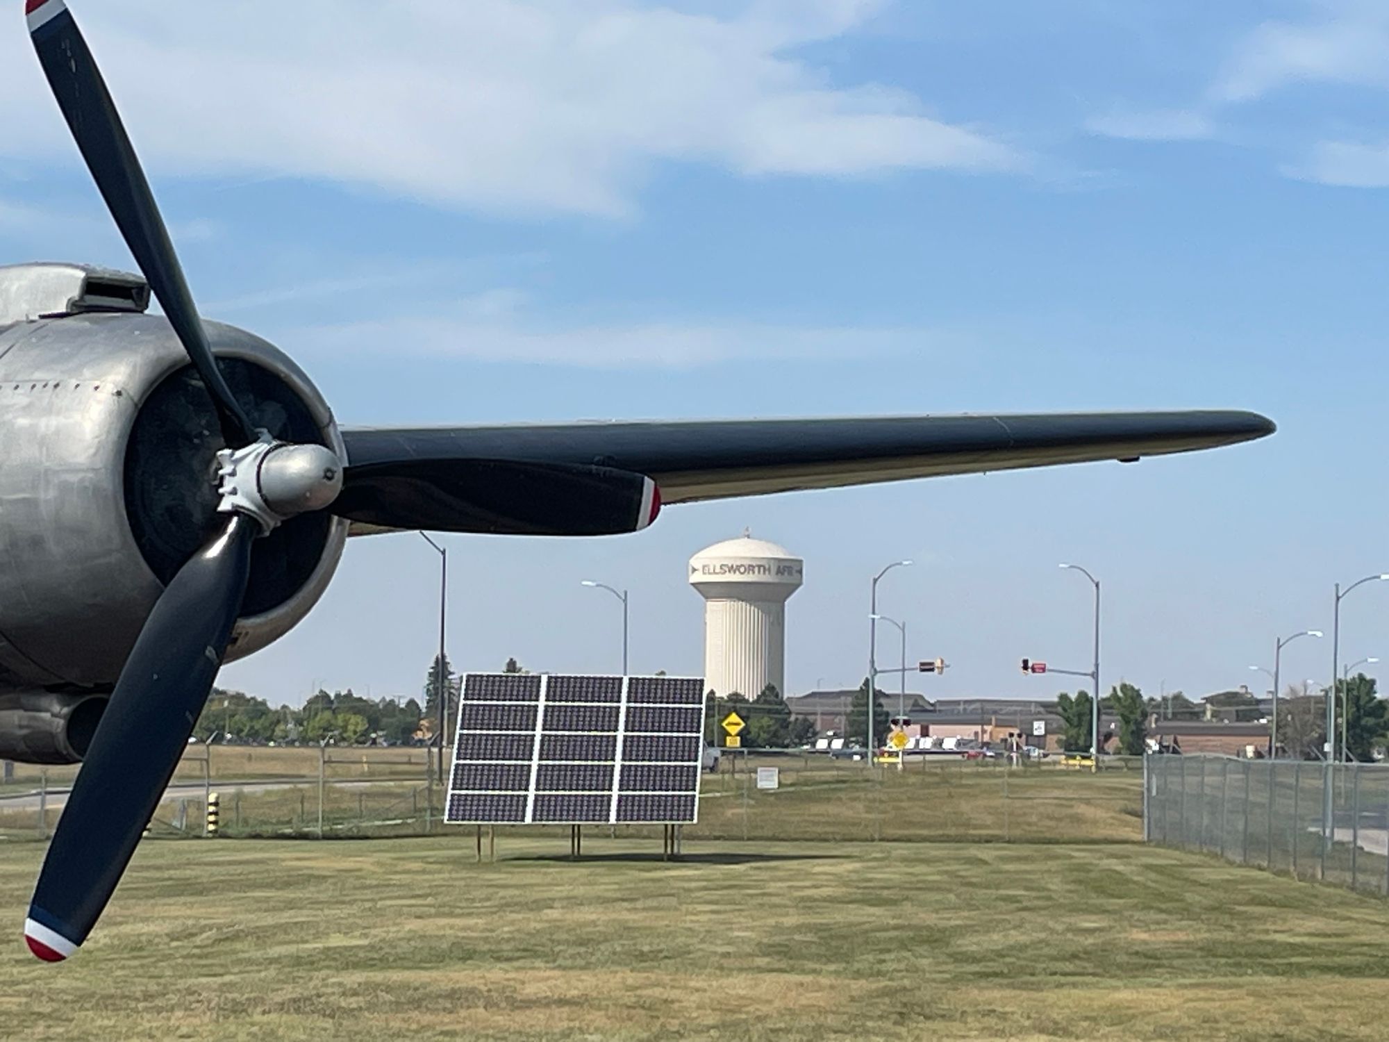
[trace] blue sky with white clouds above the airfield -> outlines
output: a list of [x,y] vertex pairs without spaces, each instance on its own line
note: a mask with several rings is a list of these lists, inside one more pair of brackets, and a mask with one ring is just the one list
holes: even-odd
[[[697,672],[683,560],[806,557],[792,692],[851,685],[868,579],[928,695],[1051,696],[1031,656],[1157,693],[1256,684],[1331,586],[1389,571],[1389,14],[1368,0],[71,3],[204,314],[294,356],[343,424],[1239,407],[1272,439],[675,507],[592,542],[449,538],[469,668]],[[176,85],[176,89],[169,89]],[[15,17],[0,256],[129,265]],[[415,693],[436,559],[358,539],[222,677]],[[1389,588],[1343,650],[1389,660]],[[895,636],[895,635],[893,635]],[[1324,678],[1303,640],[1289,679]],[[885,640],[882,656],[896,653]],[[885,686],[895,686],[888,681]]]

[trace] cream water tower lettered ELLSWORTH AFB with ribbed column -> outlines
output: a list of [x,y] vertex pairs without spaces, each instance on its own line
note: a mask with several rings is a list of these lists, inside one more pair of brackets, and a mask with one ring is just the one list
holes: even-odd
[[772,684],[786,695],[786,599],[803,571],[800,557],[747,534],[690,559],[690,585],[704,597],[707,689],[756,699]]

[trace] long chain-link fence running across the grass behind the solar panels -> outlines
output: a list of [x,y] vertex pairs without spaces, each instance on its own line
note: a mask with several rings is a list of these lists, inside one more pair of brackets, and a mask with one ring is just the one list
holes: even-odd
[[[428,757],[426,757],[428,752]],[[444,834],[444,789],[435,750],[190,746],[156,810],[149,835],[210,836],[207,803],[217,797],[224,838],[392,836]],[[450,759],[446,752],[446,763]],[[701,779],[690,841],[1139,842],[1143,764],[1101,757],[1101,770],[1060,757],[908,757],[870,766],[814,752],[724,750]],[[775,768],[775,788],[765,768]],[[15,766],[0,781],[0,839],[46,839],[75,768]],[[568,825],[497,827],[567,835]],[[661,827],[585,827],[594,838],[660,836]]]

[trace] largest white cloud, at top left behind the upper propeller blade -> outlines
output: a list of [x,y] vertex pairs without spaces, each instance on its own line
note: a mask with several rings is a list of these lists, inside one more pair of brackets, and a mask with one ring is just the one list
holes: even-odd
[[[622,215],[667,161],[836,176],[1025,165],[907,92],[836,85],[799,53],[879,6],[735,0],[715,17],[636,0],[74,4],[142,157],[164,175]],[[75,161],[29,50],[22,24],[0,33],[0,149]]]

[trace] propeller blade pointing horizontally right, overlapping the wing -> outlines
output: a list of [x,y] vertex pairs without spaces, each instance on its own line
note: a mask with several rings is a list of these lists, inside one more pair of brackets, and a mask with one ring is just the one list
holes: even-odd
[[347,467],[332,511],[381,529],[617,535],[661,508],[656,482],[611,467],[515,460],[392,460]]

